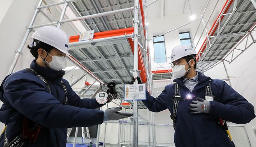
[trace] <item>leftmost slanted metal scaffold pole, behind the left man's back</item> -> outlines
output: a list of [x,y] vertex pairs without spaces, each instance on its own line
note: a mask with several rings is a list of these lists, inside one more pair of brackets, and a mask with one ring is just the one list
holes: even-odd
[[33,24],[34,24],[34,22],[35,22],[35,18],[37,17],[37,14],[39,13],[39,10],[40,10],[39,7],[41,6],[42,2],[43,2],[43,0],[40,0],[40,1],[39,1],[39,4],[37,5],[37,8],[36,8],[35,13],[34,13],[34,15],[33,15],[33,17],[32,17],[32,20],[31,20],[31,22],[30,22],[30,24],[29,24],[29,26],[28,26],[28,29],[27,29],[27,31],[26,31],[26,34],[25,34],[25,36],[24,36],[24,38],[23,38],[23,40],[22,40],[22,42],[21,42],[21,45],[19,46],[18,51],[16,51],[16,55],[15,55],[14,60],[13,60],[13,62],[12,62],[11,68],[10,68],[10,70],[9,70],[9,72],[8,72],[8,75],[11,74],[11,73],[13,73],[13,70],[14,70],[14,68],[15,68],[15,66],[16,66],[16,64],[17,64],[17,62],[18,62],[18,60],[19,60],[19,55],[22,53],[23,47],[24,47],[24,45],[25,45],[25,43],[26,43],[26,40],[27,40],[27,38],[28,38],[28,35],[29,35],[30,32],[32,31],[30,27],[33,26]]

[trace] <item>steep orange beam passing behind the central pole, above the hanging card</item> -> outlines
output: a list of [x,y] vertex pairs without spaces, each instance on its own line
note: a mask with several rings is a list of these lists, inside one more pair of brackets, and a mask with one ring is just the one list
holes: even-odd
[[[132,38],[128,38],[128,41],[130,43],[130,46],[132,48],[132,53],[134,54],[134,43],[132,41]],[[147,76],[146,76],[146,72],[145,72],[145,68],[144,68],[144,64],[143,64],[143,59],[142,59],[142,56],[141,56],[141,52],[140,52],[140,48],[138,46],[138,70],[141,71],[140,73],[140,77],[141,77],[141,81],[143,83],[146,83],[147,82]]]

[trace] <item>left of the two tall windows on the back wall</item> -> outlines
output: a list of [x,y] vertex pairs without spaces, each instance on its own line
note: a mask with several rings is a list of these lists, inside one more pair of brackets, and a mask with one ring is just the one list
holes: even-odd
[[[153,37],[156,37],[156,36],[153,36]],[[166,62],[164,36],[159,36],[158,38],[153,39],[153,41],[154,41],[155,62],[157,63]]]

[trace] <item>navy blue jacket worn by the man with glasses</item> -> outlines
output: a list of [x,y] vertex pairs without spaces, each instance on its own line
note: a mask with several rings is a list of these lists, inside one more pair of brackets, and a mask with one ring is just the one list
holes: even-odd
[[[183,84],[182,78],[174,81],[180,85],[181,97],[191,95],[205,99],[205,85],[211,83],[212,94],[217,101],[210,101],[210,112],[192,114],[189,104],[192,99],[180,101],[177,110],[177,121],[174,134],[176,147],[233,147],[228,135],[217,124],[216,116],[233,123],[249,123],[254,117],[254,107],[223,80],[212,80],[198,72],[199,83],[190,92]],[[147,92],[143,103],[153,112],[169,109],[173,114],[174,84],[167,85],[156,98]],[[170,121],[172,121],[170,119]],[[231,134],[232,136],[232,134]]]

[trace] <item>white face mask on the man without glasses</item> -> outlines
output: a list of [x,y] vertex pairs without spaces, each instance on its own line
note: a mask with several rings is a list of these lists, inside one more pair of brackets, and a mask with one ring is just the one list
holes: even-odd
[[45,60],[50,65],[51,69],[59,71],[67,67],[67,59],[65,58],[65,56],[52,56],[52,57],[53,57],[53,60],[50,63]]

